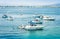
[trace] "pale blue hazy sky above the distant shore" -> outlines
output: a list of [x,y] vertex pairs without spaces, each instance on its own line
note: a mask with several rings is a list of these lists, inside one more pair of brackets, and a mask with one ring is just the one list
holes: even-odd
[[60,0],[0,0],[0,6],[42,6],[60,3]]

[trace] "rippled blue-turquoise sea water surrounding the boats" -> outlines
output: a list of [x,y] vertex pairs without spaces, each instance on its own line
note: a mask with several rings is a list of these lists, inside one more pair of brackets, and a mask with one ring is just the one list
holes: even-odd
[[[3,19],[3,14],[12,16],[13,21]],[[33,15],[52,16],[55,21],[43,21],[43,30],[19,29],[28,25]],[[0,7],[0,39],[60,39],[60,8]]]

